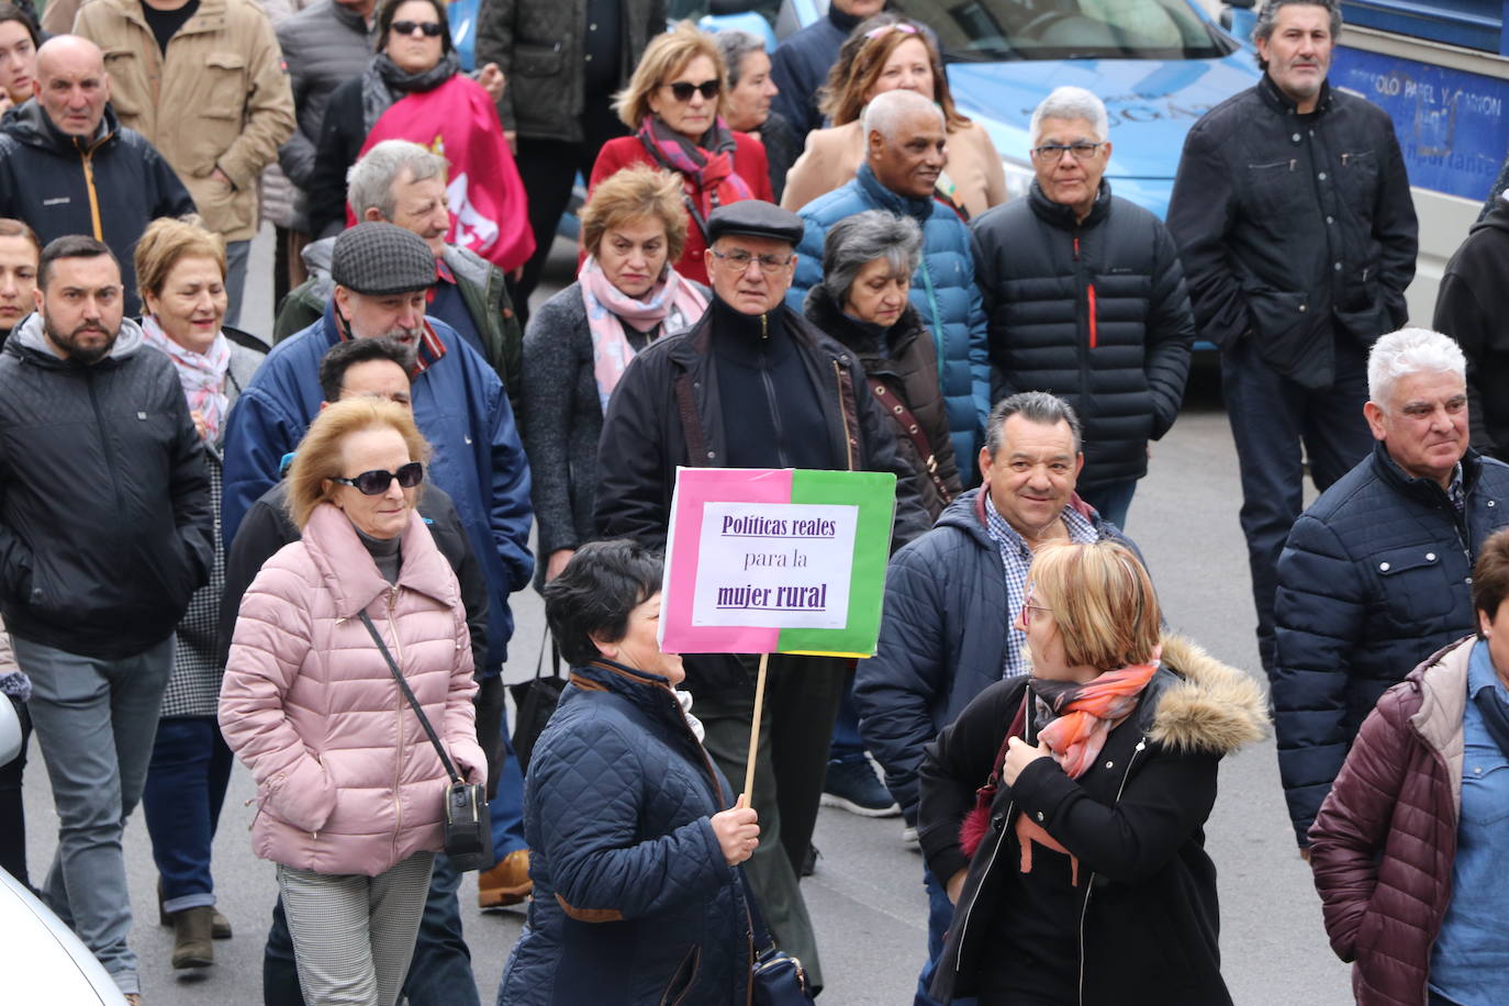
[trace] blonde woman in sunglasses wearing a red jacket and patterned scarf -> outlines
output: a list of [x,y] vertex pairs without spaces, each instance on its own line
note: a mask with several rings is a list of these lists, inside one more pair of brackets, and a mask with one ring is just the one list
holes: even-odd
[[604,143],[589,186],[590,196],[629,164],[679,175],[688,228],[673,267],[699,284],[708,282],[708,216],[741,199],[776,201],[765,148],[723,118],[726,81],[718,44],[691,21],[650,39],[629,86],[614,98],[619,118],[637,133]]

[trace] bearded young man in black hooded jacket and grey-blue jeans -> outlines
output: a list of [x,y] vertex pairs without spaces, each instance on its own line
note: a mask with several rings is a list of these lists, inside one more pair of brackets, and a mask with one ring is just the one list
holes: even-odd
[[140,1003],[121,836],[214,534],[178,374],[124,296],[109,246],[60,237],[0,353],[0,609],[57,810],[44,897]]

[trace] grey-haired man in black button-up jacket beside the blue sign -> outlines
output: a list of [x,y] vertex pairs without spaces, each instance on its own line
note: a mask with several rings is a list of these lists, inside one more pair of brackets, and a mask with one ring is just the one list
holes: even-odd
[[1367,348],[1405,323],[1417,222],[1388,115],[1326,83],[1338,0],[1269,0],[1263,77],[1185,137],[1168,205],[1242,472],[1257,646],[1274,673],[1275,567],[1304,507],[1367,457]]

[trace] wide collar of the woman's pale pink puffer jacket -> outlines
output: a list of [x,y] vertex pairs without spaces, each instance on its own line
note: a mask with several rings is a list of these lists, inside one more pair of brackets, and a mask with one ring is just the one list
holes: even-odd
[[403,528],[398,552],[403,561],[397,584],[383,579],[377,563],[356,535],[356,528],[332,504],[320,504],[309,514],[303,544],[335,599],[335,612],[341,618],[355,618],[394,587],[433,597],[442,605],[460,603],[456,575],[424,526],[418,508],[409,511],[409,523]]

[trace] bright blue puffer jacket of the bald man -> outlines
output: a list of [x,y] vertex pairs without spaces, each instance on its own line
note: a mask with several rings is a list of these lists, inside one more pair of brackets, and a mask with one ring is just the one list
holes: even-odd
[[[801,208],[807,229],[797,247],[797,276],[786,303],[801,314],[807,291],[822,281],[822,238],[828,228],[865,210],[889,210],[922,225],[922,262],[911,276],[910,300],[933,333],[954,457],[973,459],[984,443],[981,431],[990,412],[990,348],[969,228],[952,210],[936,199],[898,196],[875,181],[869,164],[860,164],[854,181]],[[960,475],[966,469],[975,466],[961,463]]]

